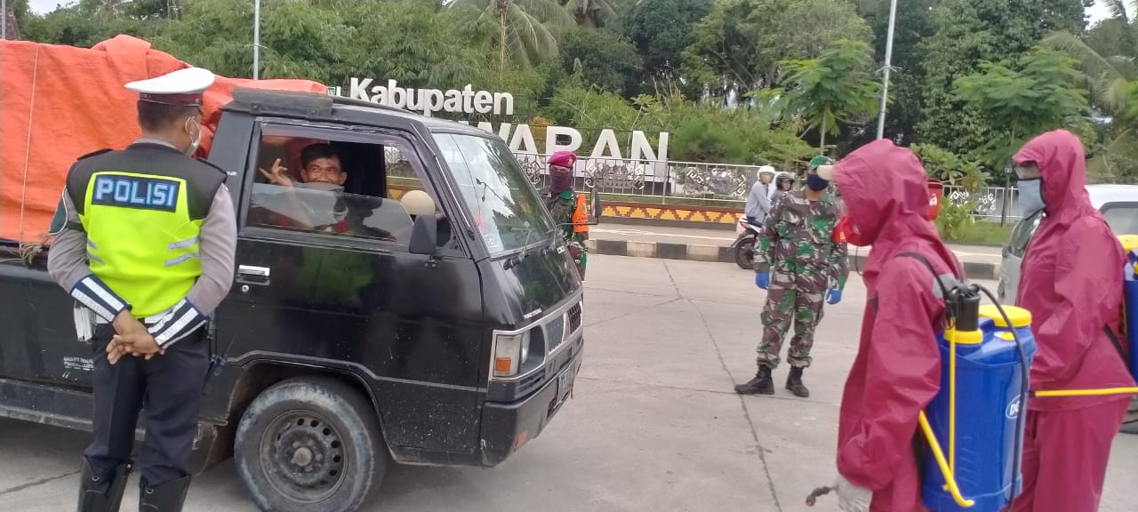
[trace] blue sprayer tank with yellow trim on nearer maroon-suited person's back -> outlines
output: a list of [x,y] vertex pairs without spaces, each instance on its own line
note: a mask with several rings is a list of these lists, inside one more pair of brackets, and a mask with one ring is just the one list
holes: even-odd
[[[927,418],[938,444],[956,477],[960,494],[973,499],[972,506],[956,503],[945,485],[945,477],[925,448],[922,497],[934,512],[998,512],[1022,490],[1021,473],[1012,474],[1013,463],[1022,456],[1021,421],[1026,404],[1021,394],[1021,371],[1029,371],[1036,354],[1031,335],[1031,313],[1003,306],[1012,321],[1009,328],[993,305],[980,307],[979,332],[949,331],[938,336],[941,355],[940,393],[929,404]],[[1020,337],[1028,368],[1023,368],[1012,329]],[[950,441],[949,402],[951,348],[956,339],[956,440]],[[918,430],[920,433],[920,430]]]

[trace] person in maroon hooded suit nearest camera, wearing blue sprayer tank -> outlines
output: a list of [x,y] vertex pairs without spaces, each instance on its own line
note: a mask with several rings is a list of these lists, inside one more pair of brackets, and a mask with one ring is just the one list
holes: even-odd
[[847,512],[924,511],[913,441],[940,389],[937,333],[947,327],[933,270],[949,289],[964,273],[929,221],[927,177],[907,148],[876,140],[818,173],[833,175],[846,201],[847,242],[873,245],[838,426],[839,503]]

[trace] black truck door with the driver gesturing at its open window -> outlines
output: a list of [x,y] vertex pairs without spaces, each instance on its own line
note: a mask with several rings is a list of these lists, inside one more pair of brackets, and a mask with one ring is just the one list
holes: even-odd
[[423,189],[438,204],[412,135],[263,123],[254,140],[236,282],[216,315],[230,364],[351,372],[371,388],[388,444],[472,453],[479,278],[445,229],[437,265],[409,251],[398,197]]

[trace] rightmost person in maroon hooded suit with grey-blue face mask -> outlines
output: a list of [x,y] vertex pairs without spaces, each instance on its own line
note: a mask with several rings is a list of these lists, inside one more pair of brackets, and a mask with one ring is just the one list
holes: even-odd
[[[1131,387],[1120,337],[1125,256],[1090,204],[1082,142],[1044,133],[1013,157],[1020,205],[1045,217],[1028,245],[1017,304],[1031,312],[1038,352],[1031,389]],[[1033,397],[1023,443],[1023,493],[1013,512],[1094,512],[1111,440],[1130,395]]]

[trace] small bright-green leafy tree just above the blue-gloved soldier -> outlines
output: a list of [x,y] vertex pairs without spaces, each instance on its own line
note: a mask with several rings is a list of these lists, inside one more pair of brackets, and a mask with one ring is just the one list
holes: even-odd
[[873,50],[861,41],[834,41],[820,57],[783,60],[786,106],[818,129],[819,154],[826,135],[839,133],[839,122],[875,114],[881,84],[872,74]]

